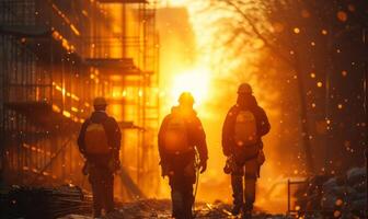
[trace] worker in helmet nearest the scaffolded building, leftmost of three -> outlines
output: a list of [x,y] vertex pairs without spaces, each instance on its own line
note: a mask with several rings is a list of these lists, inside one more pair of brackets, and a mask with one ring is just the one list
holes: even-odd
[[122,134],[113,117],[106,114],[104,97],[93,101],[94,112],[83,123],[78,146],[87,159],[83,169],[89,174],[93,195],[93,217],[114,210],[114,173],[120,168],[119,149]]

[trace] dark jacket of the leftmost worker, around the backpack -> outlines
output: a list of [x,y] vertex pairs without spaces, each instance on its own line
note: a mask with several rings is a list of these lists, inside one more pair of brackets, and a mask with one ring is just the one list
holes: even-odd
[[[108,146],[112,147],[112,151],[108,154],[88,154],[85,152],[85,143],[84,143],[84,135],[87,127],[91,123],[103,124]],[[93,163],[100,163],[105,165],[108,161],[113,158],[115,161],[118,161],[118,153],[120,150],[120,140],[122,140],[122,132],[113,117],[107,116],[105,112],[97,111],[93,112],[91,117],[85,119],[82,124],[79,137],[78,137],[78,147],[79,151],[87,158],[88,161]]]

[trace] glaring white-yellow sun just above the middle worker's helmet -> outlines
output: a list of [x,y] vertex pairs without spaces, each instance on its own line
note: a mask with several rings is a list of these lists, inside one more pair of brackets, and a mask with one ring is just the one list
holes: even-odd
[[180,94],[187,91],[194,96],[196,105],[203,104],[208,97],[209,76],[209,70],[205,68],[177,73],[171,85],[171,102],[176,103]]

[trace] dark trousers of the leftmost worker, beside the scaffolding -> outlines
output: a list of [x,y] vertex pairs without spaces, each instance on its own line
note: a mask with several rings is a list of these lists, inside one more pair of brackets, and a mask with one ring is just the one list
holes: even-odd
[[94,165],[90,166],[89,174],[93,195],[93,215],[101,217],[102,208],[106,214],[114,210],[114,175],[107,166]]

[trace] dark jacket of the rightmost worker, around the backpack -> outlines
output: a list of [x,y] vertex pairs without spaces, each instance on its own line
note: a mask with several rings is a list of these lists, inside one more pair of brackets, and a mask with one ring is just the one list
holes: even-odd
[[[237,105],[230,108],[222,127],[222,152],[227,157],[234,154],[237,152],[238,153],[242,152],[234,150],[235,148],[238,148],[235,147],[234,142],[234,126],[235,126],[235,118],[239,112],[244,110],[251,111],[256,120],[258,139],[255,148],[258,149],[263,148],[262,136],[266,135],[269,131],[271,126],[268,123],[267,115],[264,112],[264,110],[257,105],[255,97],[253,95],[239,96]],[[246,151],[243,152],[246,153]]]

